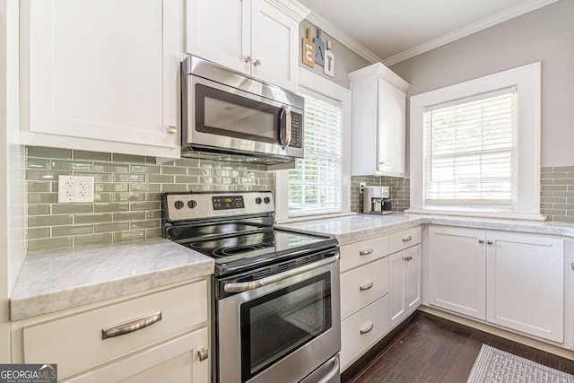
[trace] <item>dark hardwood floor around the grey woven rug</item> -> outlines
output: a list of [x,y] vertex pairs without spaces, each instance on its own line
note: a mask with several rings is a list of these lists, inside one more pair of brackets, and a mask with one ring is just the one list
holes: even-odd
[[418,311],[341,378],[344,383],[465,383],[482,344],[574,374],[574,361]]

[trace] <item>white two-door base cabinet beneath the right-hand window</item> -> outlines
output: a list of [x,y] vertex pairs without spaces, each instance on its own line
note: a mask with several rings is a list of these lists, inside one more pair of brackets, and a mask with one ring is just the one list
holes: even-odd
[[562,343],[563,239],[431,226],[429,303]]

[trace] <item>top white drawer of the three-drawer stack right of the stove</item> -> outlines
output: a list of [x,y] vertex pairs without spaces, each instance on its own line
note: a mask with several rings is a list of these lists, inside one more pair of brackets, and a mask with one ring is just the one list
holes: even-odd
[[388,237],[361,240],[341,246],[341,273],[388,255]]

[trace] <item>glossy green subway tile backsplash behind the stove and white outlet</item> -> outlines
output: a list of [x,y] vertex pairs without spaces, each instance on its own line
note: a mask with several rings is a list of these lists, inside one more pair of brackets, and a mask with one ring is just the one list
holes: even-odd
[[[161,193],[272,190],[274,173],[219,161],[30,146],[28,249],[74,248],[161,236]],[[58,204],[59,175],[94,178],[94,202]]]

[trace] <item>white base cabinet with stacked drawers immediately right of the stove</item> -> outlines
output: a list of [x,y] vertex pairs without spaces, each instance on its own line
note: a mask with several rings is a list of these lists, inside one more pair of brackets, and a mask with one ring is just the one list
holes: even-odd
[[417,227],[341,246],[341,370],[419,306],[420,242]]

